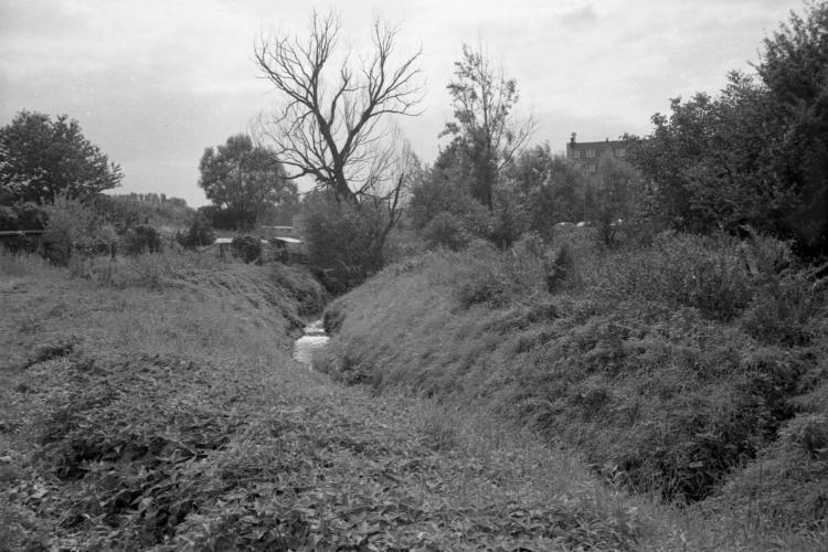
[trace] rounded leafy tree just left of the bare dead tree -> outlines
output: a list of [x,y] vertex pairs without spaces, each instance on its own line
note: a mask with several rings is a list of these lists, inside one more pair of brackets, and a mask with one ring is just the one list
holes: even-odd
[[276,203],[295,201],[296,183],[286,179],[273,150],[255,146],[250,136],[227,138],[204,150],[199,185],[236,229],[250,229]]

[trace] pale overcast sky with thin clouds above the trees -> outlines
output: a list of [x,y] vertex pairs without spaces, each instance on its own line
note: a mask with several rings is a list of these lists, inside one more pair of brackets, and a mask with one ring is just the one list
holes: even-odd
[[[341,13],[341,45],[364,51],[374,15],[422,46],[424,114],[401,120],[433,161],[452,117],[446,84],[464,42],[518,82],[535,142],[646,135],[669,98],[714,93],[750,71],[799,0],[0,0],[0,125],[22,109],[67,114],[121,166],[120,192],[205,203],[204,148],[277,102],[252,62],[259,33],[301,32],[310,10]],[[444,138],[445,141],[445,138]]]

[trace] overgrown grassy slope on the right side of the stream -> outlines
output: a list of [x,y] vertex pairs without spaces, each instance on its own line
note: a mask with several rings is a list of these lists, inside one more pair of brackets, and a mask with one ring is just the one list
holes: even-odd
[[572,448],[672,503],[654,523],[689,550],[824,550],[828,286],[808,276],[760,236],[429,253],[329,307],[321,368]]

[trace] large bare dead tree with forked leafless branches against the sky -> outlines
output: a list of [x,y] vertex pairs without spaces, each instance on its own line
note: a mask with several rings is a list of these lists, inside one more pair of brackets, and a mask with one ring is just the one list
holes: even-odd
[[[254,46],[255,62],[284,104],[259,129],[275,146],[289,178],[310,176],[317,187],[359,203],[382,179],[389,116],[418,115],[422,51],[394,62],[399,29],[375,20],[372,50],[355,68],[351,53],[337,59],[339,18],[312,13],[309,35],[274,35]],[[336,60],[336,61],[335,61]],[[379,171],[379,172],[378,172]]]

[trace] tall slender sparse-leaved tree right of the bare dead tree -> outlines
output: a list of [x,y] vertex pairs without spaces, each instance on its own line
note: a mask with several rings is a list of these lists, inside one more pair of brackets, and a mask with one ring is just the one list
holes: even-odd
[[455,79],[448,84],[455,120],[446,124],[443,135],[454,136],[464,155],[471,195],[492,210],[498,176],[531,136],[533,120],[512,117],[517,83],[495,71],[481,50],[464,44],[455,62]]

